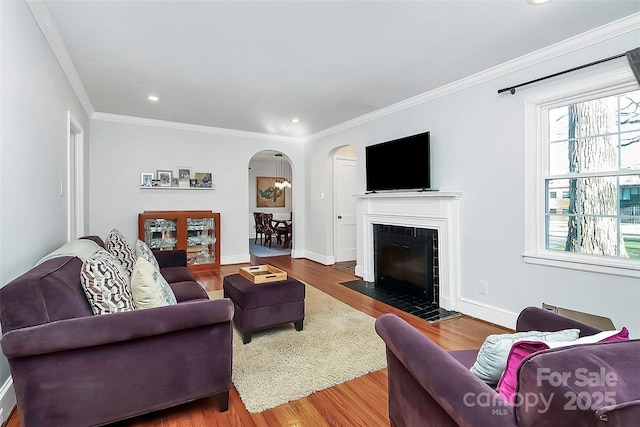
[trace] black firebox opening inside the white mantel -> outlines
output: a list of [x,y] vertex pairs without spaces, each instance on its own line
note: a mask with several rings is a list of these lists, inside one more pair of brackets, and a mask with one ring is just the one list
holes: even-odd
[[438,232],[373,224],[376,285],[397,286],[438,304]]

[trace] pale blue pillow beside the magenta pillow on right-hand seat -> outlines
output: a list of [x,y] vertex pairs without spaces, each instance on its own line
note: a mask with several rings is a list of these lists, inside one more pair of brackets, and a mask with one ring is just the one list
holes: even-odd
[[514,334],[494,334],[485,339],[478,351],[478,358],[471,367],[482,381],[495,385],[500,380],[507,364],[507,356],[516,341],[572,341],[578,339],[579,329],[565,329],[557,332],[527,331]]

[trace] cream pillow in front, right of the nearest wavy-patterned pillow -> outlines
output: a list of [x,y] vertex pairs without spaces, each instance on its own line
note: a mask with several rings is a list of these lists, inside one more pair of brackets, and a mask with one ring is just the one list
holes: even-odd
[[167,281],[152,263],[138,258],[131,275],[131,294],[136,308],[163,307],[177,304]]

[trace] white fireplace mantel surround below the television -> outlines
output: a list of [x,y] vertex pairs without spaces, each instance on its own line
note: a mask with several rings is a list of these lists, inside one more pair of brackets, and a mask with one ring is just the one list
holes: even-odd
[[373,193],[358,198],[356,274],[374,281],[373,224],[438,231],[440,307],[456,310],[460,289],[460,197],[458,192]]

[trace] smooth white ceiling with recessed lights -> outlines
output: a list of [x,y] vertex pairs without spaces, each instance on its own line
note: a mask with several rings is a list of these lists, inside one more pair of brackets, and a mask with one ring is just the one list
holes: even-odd
[[637,0],[46,6],[95,111],[295,137],[640,11]]

